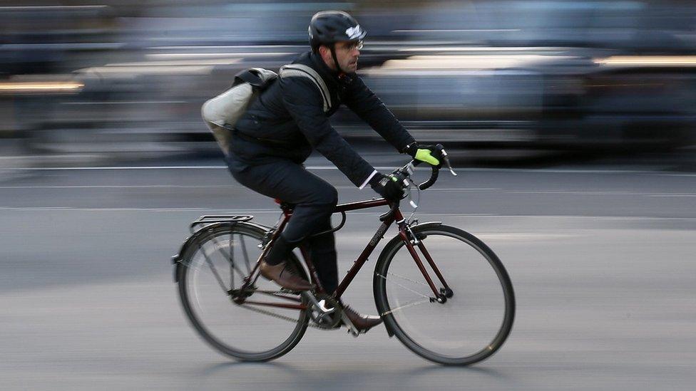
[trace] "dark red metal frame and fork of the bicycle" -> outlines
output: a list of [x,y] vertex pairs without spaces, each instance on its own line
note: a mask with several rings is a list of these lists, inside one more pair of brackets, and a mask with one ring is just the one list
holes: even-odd
[[[368,208],[374,208],[374,207],[383,207],[383,206],[388,206],[389,202],[386,199],[370,199],[370,200],[365,200],[365,201],[359,201],[359,202],[349,202],[347,204],[338,204],[336,208],[334,209],[334,213],[345,213],[345,212],[350,212],[354,210],[359,210],[359,209],[368,209]],[[281,208],[283,211],[283,217],[280,221],[280,224],[278,224],[277,229],[275,229],[275,232],[271,236],[270,239],[270,245],[266,246],[265,249],[262,251],[261,255],[259,256],[259,260],[263,259],[266,255],[266,253],[269,251],[270,247],[272,244],[275,242],[277,239],[277,236],[280,235],[282,230],[285,228],[285,225],[287,222],[290,220],[290,217],[292,217],[292,207],[290,207],[287,204],[281,204]],[[442,283],[444,288],[449,289],[449,286],[447,283],[444,281],[444,277],[440,273],[439,269],[435,265],[435,262],[431,258],[429,252],[425,248],[425,245],[423,244],[423,241],[419,240],[418,238],[414,237],[413,234],[410,232],[409,226],[406,224],[406,221],[404,219],[404,216],[401,214],[401,211],[399,210],[399,205],[392,205],[390,212],[387,214],[383,215],[382,220],[382,225],[379,226],[377,229],[377,232],[375,232],[374,236],[372,236],[372,239],[370,239],[369,243],[365,247],[365,249],[362,251],[362,253],[358,256],[358,259],[354,261],[353,266],[351,269],[348,271],[347,275],[343,278],[341,283],[339,283],[338,288],[336,291],[333,293],[334,298],[340,298],[341,295],[346,291],[350,283],[353,281],[353,278],[357,275],[358,271],[362,268],[362,266],[367,262],[368,257],[370,254],[372,254],[372,251],[374,251],[375,247],[377,247],[377,244],[379,244],[379,241],[381,241],[384,238],[384,234],[387,232],[387,229],[389,229],[389,226],[391,226],[394,221],[396,221],[396,224],[399,226],[399,236],[401,237],[401,240],[404,241],[404,244],[406,245],[406,249],[409,250],[409,253],[413,257],[414,261],[416,262],[416,265],[418,266],[418,269],[421,271],[423,274],[424,278],[426,279],[428,286],[430,286],[431,290],[433,291],[434,297],[432,298],[434,301],[437,300],[438,298],[441,298],[443,296],[443,293],[439,291],[435,284],[433,283],[432,278],[430,278],[428,271],[426,271],[425,266],[423,265],[423,262],[421,261],[420,256],[416,253],[416,249],[414,247],[414,244],[421,250],[421,253],[425,256],[426,261],[428,261],[428,264],[431,266],[433,271],[435,272],[436,276],[438,277],[439,281]],[[413,243],[411,243],[411,240],[413,240]],[[312,264],[312,260],[309,258],[309,253],[305,246],[300,246],[300,252],[302,253],[302,257],[305,259],[305,264],[307,265],[307,269],[309,269],[309,275],[312,278],[312,283],[317,285],[317,292],[319,293],[326,293],[324,291],[324,287],[322,286],[321,282],[319,281],[319,276],[317,274],[316,269],[314,269],[314,264]],[[242,291],[245,290],[245,288],[248,288],[253,281],[256,281],[256,278],[259,277],[259,274],[257,273],[257,270],[259,269],[259,264],[260,262],[257,261],[256,265],[254,266],[254,269],[252,269],[250,275],[245,278],[245,284],[242,286]],[[278,298],[284,298],[288,299],[290,301],[300,301],[299,298],[289,298],[287,296],[276,296]],[[243,303],[246,304],[254,304],[257,306],[271,306],[271,307],[279,307],[279,308],[297,308],[298,310],[304,310],[306,309],[306,306],[302,304],[283,304],[283,303],[262,303],[258,301],[247,301],[244,300]]]

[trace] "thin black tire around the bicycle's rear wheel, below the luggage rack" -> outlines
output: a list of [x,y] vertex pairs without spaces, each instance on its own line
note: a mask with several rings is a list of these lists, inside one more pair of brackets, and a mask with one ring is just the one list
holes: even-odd
[[[249,236],[250,238],[252,238],[253,241],[261,243],[263,236],[266,232],[267,231],[265,231],[265,229],[262,229],[259,226],[245,223],[224,224],[220,226],[215,226],[212,229],[208,229],[208,231],[206,231],[203,235],[200,235],[200,237],[197,240],[193,241],[191,244],[186,246],[185,249],[183,249],[183,256],[179,264],[180,267],[178,267],[176,271],[180,301],[182,303],[184,312],[188,320],[190,321],[191,325],[193,325],[193,328],[195,328],[195,330],[203,338],[203,340],[205,340],[205,342],[207,342],[210,346],[215,348],[215,350],[218,350],[218,352],[227,355],[228,357],[235,358],[237,360],[268,361],[273,360],[275,358],[279,358],[280,356],[290,352],[290,350],[292,350],[292,348],[295,348],[295,345],[297,345],[297,343],[300,342],[302,336],[305,335],[305,331],[307,330],[307,323],[309,321],[309,314],[306,310],[299,311],[300,314],[297,317],[297,325],[295,325],[295,328],[292,330],[292,333],[290,333],[290,335],[277,346],[262,351],[250,351],[242,348],[235,348],[234,346],[230,346],[228,343],[223,342],[220,336],[214,335],[209,330],[209,328],[206,327],[204,320],[201,319],[200,315],[197,313],[195,309],[195,303],[191,300],[189,295],[190,292],[187,288],[189,283],[193,283],[193,281],[191,281],[190,278],[190,272],[192,271],[192,267],[195,265],[194,257],[196,256],[196,254],[198,254],[199,250],[205,248],[205,244],[209,241],[212,241],[213,239],[218,238],[220,236],[239,234]],[[218,243],[215,243],[214,245],[218,245]],[[256,261],[256,259],[253,259],[253,261]],[[300,261],[298,261],[297,257],[294,254],[290,257],[288,261],[290,262],[290,264],[295,266],[295,269],[300,276],[307,278],[307,273],[305,269],[301,266]],[[260,277],[259,281],[261,281],[262,278],[263,277]],[[222,295],[222,293],[220,294]],[[302,297],[301,300],[302,303],[304,303],[305,305],[307,304],[305,298]],[[239,305],[233,303],[232,300],[229,300],[229,305],[239,307]]]

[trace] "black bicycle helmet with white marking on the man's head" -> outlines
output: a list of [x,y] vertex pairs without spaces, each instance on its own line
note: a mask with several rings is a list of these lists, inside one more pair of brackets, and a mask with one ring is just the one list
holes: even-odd
[[358,22],[343,11],[319,11],[309,22],[309,46],[316,53],[319,46],[339,41],[362,41],[367,36]]

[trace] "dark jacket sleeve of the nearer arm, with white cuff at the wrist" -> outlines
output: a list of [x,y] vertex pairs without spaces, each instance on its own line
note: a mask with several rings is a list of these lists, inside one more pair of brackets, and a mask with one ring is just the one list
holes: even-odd
[[323,112],[319,89],[311,80],[298,77],[280,79],[283,103],[309,144],[330,160],[353,184],[364,187],[374,175],[374,167],[343,140]]

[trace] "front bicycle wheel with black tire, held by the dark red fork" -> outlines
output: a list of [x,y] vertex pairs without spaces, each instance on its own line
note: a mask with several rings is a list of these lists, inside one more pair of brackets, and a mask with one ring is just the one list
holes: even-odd
[[435,363],[470,365],[496,353],[515,314],[512,283],[501,261],[461,229],[427,224],[412,230],[421,242],[416,252],[446,301],[435,300],[404,241],[394,239],[374,275],[375,301],[387,328],[406,348]]

